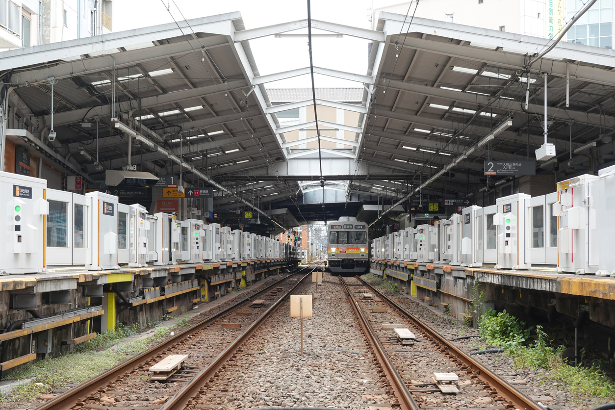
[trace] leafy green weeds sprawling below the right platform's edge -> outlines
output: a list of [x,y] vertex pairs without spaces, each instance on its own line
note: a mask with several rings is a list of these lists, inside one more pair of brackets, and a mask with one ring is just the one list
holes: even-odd
[[565,347],[551,345],[541,326],[536,326],[536,338],[532,341],[531,328],[525,328],[525,323],[506,311],[496,314],[490,309],[482,315],[479,330],[488,343],[506,349],[516,368],[542,368],[544,380],[564,385],[566,392],[575,396],[615,399],[615,385],[600,363],[589,368],[568,365],[561,358]]

